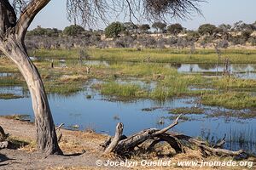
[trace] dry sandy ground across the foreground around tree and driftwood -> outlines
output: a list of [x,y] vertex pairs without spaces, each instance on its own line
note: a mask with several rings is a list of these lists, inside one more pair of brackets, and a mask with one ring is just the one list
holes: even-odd
[[[77,132],[61,129],[63,137],[60,142],[61,150],[65,156],[49,156],[44,158],[36,152],[35,127],[29,122],[20,122],[12,119],[6,119],[0,116],[0,126],[5,133],[9,133],[11,139],[30,141],[24,147],[18,150],[4,149],[0,150],[0,169],[128,169],[125,167],[97,167],[96,161],[117,160],[115,157],[102,156],[100,144],[107,139],[106,136],[96,133]],[[60,133],[60,132],[57,132]],[[85,152],[84,152],[85,151]],[[83,153],[84,152],[84,153]],[[80,155],[83,153],[82,155]],[[140,158],[139,158],[140,159]],[[178,154],[167,158],[172,161],[201,161],[202,157],[197,150],[188,151],[185,154]],[[215,158],[212,158],[215,159]],[[140,160],[141,161],[141,160]],[[256,169],[253,159],[254,167]],[[198,167],[133,167],[132,169],[198,169]],[[248,169],[245,167],[203,167],[204,170],[212,169]]]

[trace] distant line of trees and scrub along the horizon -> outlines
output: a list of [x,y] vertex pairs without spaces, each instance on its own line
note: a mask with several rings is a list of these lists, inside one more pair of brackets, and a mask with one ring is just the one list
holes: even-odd
[[[191,31],[180,24],[167,26],[162,22],[135,25],[113,22],[105,30],[84,30],[82,26],[67,26],[63,31],[38,26],[26,34],[26,45],[37,48],[188,48],[256,46],[256,22],[238,21],[234,25],[205,24]],[[40,38],[38,38],[40,37]]]

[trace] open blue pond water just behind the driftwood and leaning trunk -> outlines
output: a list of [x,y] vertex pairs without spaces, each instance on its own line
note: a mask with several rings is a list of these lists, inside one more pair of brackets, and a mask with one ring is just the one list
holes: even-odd
[[[131,102],[113,101],[91,89],[90,85],[94,82],[88,82],[84,91],[71,96],[49,94],[49,105],[56,125],[63,122],[67,128],[94,129],[97,133],[113,135],[116,124],[123,122],[124,133],[129,135],[149,127],[166,127],[176,117],[168,113],[170,109],[195,106],[195,98],[171,99],[164,103],[150,99]],[[0,88],[0,92],[24,94],[23,88],[19,87]],[[92,98],[86,99],[87,95],[91,95]],[[154,109],[143,111],[145,108]],[[28,114],[33,119],[31,99],[29,97],[0,99],[0,115],[13,114]],[[230,117],[206,117],[206,115],[189,115],[188,117],[189,121],[180,122],[173,130],[215,141],[227,134],[225,145],[227,149],[244,149],[256,153],[256,119],[238,120]]]

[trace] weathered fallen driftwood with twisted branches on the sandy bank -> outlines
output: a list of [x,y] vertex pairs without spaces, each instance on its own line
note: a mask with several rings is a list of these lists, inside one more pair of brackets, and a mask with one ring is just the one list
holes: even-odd
[[176,151],[176,153],[184,152],[184,144],[196,145],[201,150],[202,156],[240,156],[245,153],[243,150],[232,151],[223,149],[225,136],[223,139],[218,141],[217,144],[210,145],[207,144],[206,141],[201,141],[200,139],[195,139],[182,133],[167,132],[177,125],[180,116],[177,116],[177,119],[168,127],[163,129],[145,129],[129,137],[122,134],[124,126],[122,123],[119,123],[116,127],[114,137],[109,137],[103,144],[101,144],[105,149],[104,154],[114,152],[119,156],[124,156],[126,153],[131,153],[136,147],[139,147],[139,145],[149,140],[151,140],[151,144],[149,144],[148,150],[153,149],[155,144],[166,141]]

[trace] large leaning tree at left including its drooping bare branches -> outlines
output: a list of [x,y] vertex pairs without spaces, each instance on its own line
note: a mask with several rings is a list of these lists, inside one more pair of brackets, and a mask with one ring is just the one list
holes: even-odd
[[[35,114],[38,150],[45,156],[62,154],[62,151],[57,142],[44,83],[37,67],[27,54],[24,39],[27,28],[35,16],[49,2],[50,0],[0,0],[0,50],[17,65],[26,81]],[[201,0],[143,0],[143,3],[119,0],[117,4],[122,7],[124,3],[127,5],[127,2],[131,7],[128,9],[130,16],[141,6],[144,9],[142,14],[147,14],[150,18],[159,18],[170,15],[188,17],[191,11],[200,12],[198,2]],[[111,5],[112,3],[107,0],[67,0],[68,20],[80,21],[84,26],[92,26],[97,18],[103,19],[104,14],[115,11]],[[124,8],[121,12],[123,10]]]

